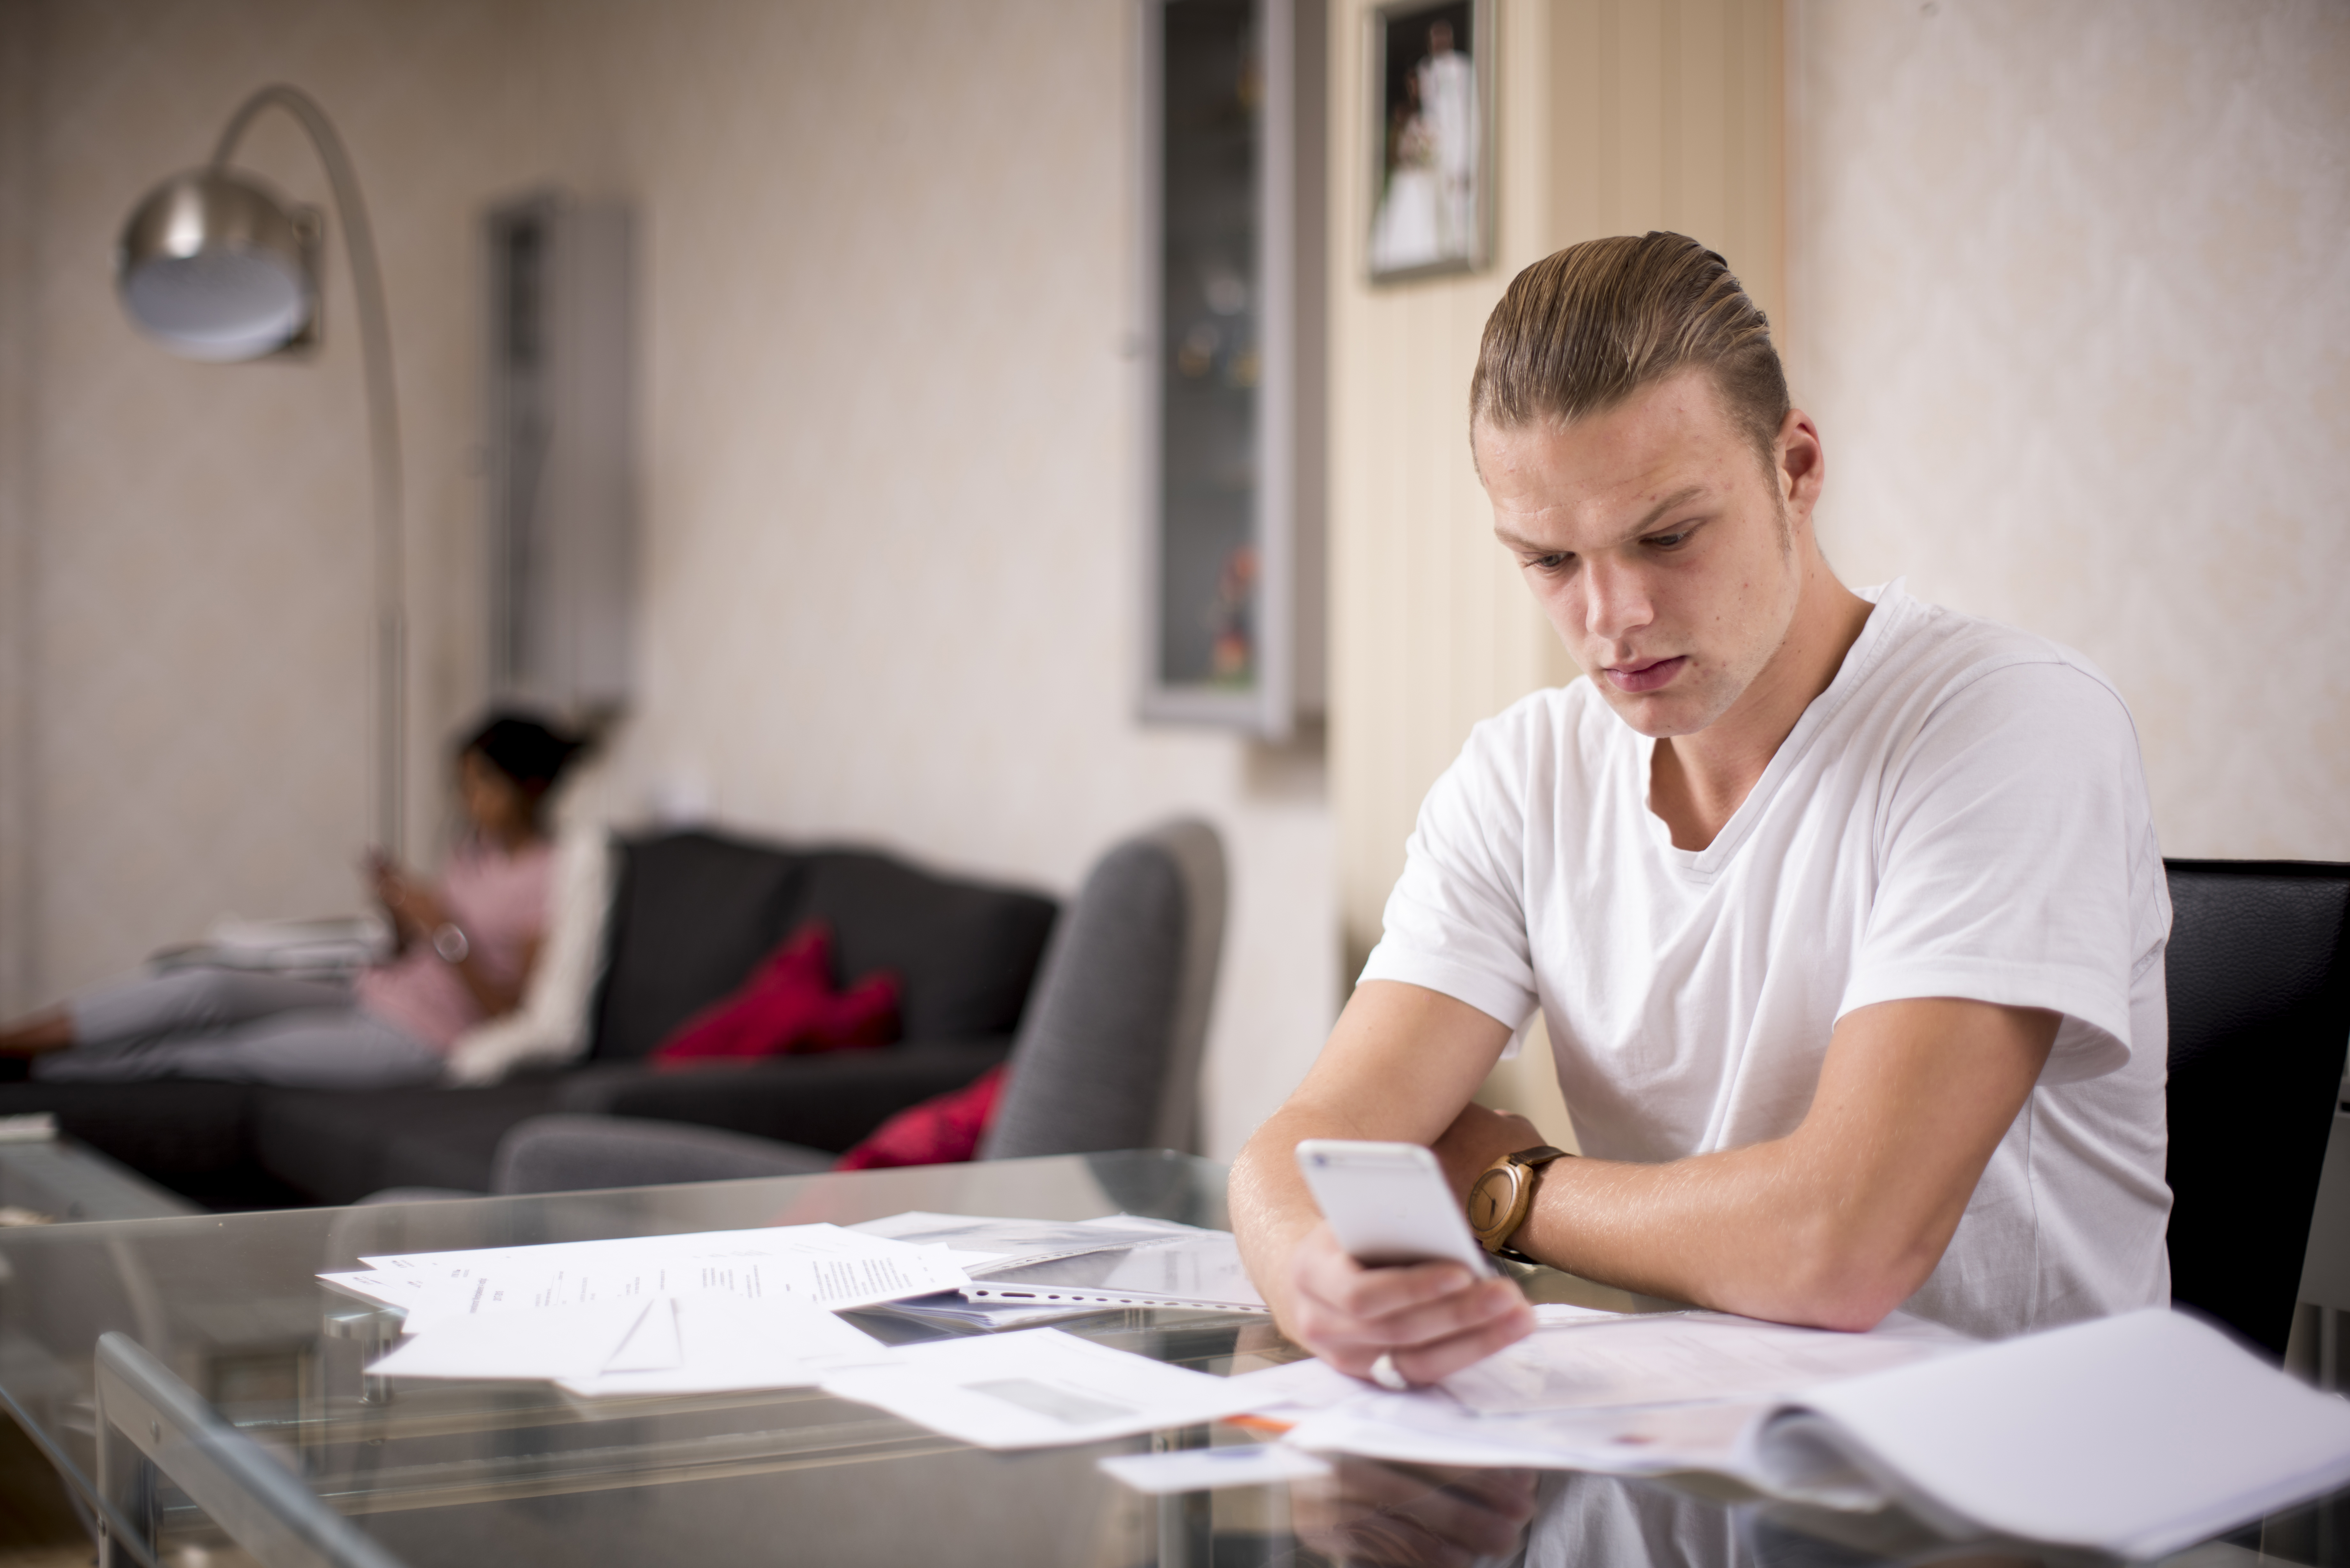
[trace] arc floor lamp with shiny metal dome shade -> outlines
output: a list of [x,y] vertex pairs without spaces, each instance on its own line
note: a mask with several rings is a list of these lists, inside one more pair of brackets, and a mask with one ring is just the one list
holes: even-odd
[[268,186],[230,172],[244,129],[268,108],[287,110],[317,158],[343,221],[360,315],[367,383],[367,447],[374,468],[374,818],[392,856],[402,839],[407,750],[407,588],[400,529],[400,414],[392,404],[392,334],[383,273],[360,200],[360,176],[327,110],[298,87],[270,85],[244,99],[212,162],[162,181],[139,202],[115,247],[115,287],[141,331],[190,360],[258,360],[317,339],[320,221],[289,209]]

